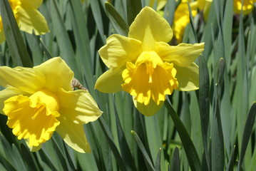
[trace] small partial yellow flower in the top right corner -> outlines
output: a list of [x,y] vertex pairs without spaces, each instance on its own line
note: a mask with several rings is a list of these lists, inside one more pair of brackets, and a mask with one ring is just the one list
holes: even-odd
[[235,14],[240,14],[242,10],[242,14],[247,15],[250,14],[250,12],[253,10],[254,6],[253,3],[255,3],[256,0],[243,0],[243,6],[242,6],[242,0],[234,0],[234,12]]

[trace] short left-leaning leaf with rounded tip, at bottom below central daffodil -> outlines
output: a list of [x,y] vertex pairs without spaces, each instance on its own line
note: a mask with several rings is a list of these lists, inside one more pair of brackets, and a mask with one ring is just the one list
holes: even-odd
[[138,137],[138,134],[135,133],[134,130],[130,131],[130,133],[133,135],[133,138],[135,139],[138,147],[140,148],[140,151],[143,153],[145,164],[146,164],[148,170],[155,170],[153,163],[151,162],[150,157],[148,156],[148,152],[145,150],[143,143],[141,142],[140,138]]

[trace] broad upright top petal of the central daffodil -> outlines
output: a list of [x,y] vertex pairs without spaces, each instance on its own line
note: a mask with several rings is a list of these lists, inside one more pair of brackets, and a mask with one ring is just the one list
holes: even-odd
[[128,37],[141,41],[143,51],[154,51],[155,42],[168,43],[173,37],[173,31],[163,16],[146,6],[130,25]]

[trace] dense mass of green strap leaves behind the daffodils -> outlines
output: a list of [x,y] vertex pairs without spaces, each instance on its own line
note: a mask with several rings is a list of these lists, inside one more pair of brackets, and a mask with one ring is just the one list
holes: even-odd
[[[179,3],[168,0],[159,11],[171,26]],[[41,150],[30,152],[0,115],[0,170],[256,170],[255,9],[246,16],[234,14],[232,0],[214,0],[207,20],[200,9],[188,11],[182,42],[205,42],[203,55],[195,61],[200,89],[174,91],[152,117],[138,113],[128,93],[94,90],[96,79],[107,70],[98,49],[113,33],[127,36],[136,14],[149,4],[43,1],[39,10],[50,32],[35,36],[21,31],[17,46],[28,52],[34,66],[61,56],[104,113],[84,125],[91,154],[72,150],[56,134]],[[155,2],[153,8],[157,6]],[[0,66],[16,66],[16,56],[11,57],[15,48],[9,47],[0,45]]]

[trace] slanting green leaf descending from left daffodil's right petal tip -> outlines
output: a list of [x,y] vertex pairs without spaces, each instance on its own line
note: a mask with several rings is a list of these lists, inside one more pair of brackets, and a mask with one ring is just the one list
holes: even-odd
[[124,161],[120,155],[120,153],[118,152],[118,148],[115,145],[115,142],[113,141],[112,135],[110,130],[108,130],[108,126],[105,123],[105,120],[103,119],[103,117],[98,118],[98,123],[100,123],[101,128],[103,130],[103,133],[106,135],[106,138],[108,140],[108,144],[111,147],[111,150],[113,152],[113,155],[116,158],[116,162],[120,168],[120,170],[126,170],[126,166],[124,164]]

